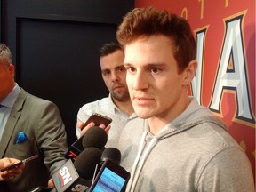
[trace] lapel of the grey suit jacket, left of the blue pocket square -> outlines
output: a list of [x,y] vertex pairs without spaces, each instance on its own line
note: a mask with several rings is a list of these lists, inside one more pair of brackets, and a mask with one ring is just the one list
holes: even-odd
[[8,144],[11,138],[16,137],[16,135],[12,135],[12,134],[20,118],[21,111],[23,108],[23,103],[25,102],[26,97],[27,97],[27,92],[21,89],[20,94],[13,105],[12,111],[10,113],[10,116],[4,128],[3,137],[2,137],[1,146],[0,146],[1,158],[4,157],[5,150],[8,147]]

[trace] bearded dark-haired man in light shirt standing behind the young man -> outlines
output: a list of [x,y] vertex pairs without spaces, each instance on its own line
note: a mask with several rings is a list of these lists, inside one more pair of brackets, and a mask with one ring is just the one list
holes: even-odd
[[[93,124],[90,124],[84,128],[84,122],[89,116],[92,113],[99,113],[113,120],[108,132],[107,146],[115,147],[125,124],[137,117],[133,113],[125,80],[126,68],[124,68],[123,62],[124,52],[120,44],[104,44],[100,48],[101,76],[108,88],[109,95],[101,100],[86,103],[79,109],[76,128],[77,138],[83,135],[88,127],[93,126]],[[83,129],[82,132],[81,129]]]

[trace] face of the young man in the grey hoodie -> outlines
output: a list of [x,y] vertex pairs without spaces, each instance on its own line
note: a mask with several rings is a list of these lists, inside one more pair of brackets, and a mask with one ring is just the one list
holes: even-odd
[[169,38],[159,35],[137,39],[125,45],[124,55],[132,106],[139,117],[172,119],[185,109],[186,73],[178,73]]

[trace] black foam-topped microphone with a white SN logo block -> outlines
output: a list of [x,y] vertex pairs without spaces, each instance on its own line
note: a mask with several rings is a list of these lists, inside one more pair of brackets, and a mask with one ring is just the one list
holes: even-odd
[[100,164],[102,151],[99,148],[85,148],[73,164],[71,159],[52,174],[52,181],[58,192],[84,192],[92,184],[92,176]]

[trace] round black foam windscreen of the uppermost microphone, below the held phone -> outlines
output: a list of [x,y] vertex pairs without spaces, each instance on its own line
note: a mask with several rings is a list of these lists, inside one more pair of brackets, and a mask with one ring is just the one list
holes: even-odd
[[107,143],[108,135],[100,127],[94,126],[84,133],[82,145],[84,148],[103,148]]

